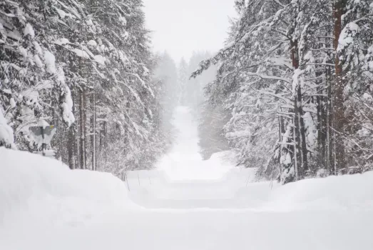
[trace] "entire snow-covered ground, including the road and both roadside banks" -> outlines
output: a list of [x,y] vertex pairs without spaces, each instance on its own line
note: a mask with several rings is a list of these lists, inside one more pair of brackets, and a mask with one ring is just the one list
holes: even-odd
[[373,249],[373,173],[280,186],[230,152],[202,161],[187,108],[153,171],[70,171],[0,148],[1,250]]

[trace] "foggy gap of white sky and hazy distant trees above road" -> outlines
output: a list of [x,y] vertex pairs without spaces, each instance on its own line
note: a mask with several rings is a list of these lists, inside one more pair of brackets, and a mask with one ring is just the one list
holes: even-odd
[[228,116],[223,106],[209,104],[204,95],[218,67],[211,67],[196,79],[190,79],[190,74],[200,61],[224,46],[230,19],[236,15],[234,0],[144,0],[144,5],[145,24],[158,55],[155,78],[163,82],[165,92],[161,100],[163,131],[173,137],[175,106],[191,107],[199,125],[200,153],[209,159],[211,154],[229,148],[222,129]]

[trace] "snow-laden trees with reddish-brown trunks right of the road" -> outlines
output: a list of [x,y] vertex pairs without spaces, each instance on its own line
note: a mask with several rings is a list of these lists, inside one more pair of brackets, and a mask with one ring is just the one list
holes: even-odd
[[373,169],[373,3],[236,0],[205,87],[240,164],[283,184]]

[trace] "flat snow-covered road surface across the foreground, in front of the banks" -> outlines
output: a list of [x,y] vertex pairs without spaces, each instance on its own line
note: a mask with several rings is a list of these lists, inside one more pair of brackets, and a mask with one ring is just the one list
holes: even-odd
[[62,229],[21,229],[1,249],[360,250],[372,249],[372,222],[368,212],[126,211]]

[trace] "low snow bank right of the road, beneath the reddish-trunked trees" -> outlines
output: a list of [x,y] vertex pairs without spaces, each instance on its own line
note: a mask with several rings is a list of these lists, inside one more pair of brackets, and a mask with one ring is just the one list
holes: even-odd
[[252,183],[239,189],[235,199],[259,211],[373,211],[373,172],[305,179],[284,186]]

